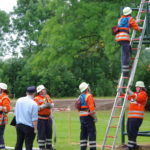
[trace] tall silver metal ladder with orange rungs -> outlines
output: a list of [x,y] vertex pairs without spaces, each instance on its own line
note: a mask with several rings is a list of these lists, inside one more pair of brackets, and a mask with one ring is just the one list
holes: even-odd
[[[142,32],[140,34],[139,38],[136,38],[138,36],[138,33],[133,30],[132,36],[131,36],[131,46],[132,46],[132,51],[136,51],[135,58],[131,58],[134,60],[132,63],[132,69],[131,69],[131,74],[130,77],[123,77],[123,74],[121,74],[118,87],[117,87],[117,94],[116,98],[114,101],[114,105],[112,108],[112,112],[110,115],[110,119],[108,122],[108,126],[106,129],[106,134],[104,137],[104,141],[101,147],[101,150],[105,149],[111,149],[115,150],[115,145],[117,142],[117,137],[119,133],[119,129],[121,127],[121,122],[123,120],[123,116],[125,113],[125,108],[126,108],[126,103],[127,103],[127,91],[129,90],[130,86],[132,85],[135,71],[137,68],[137,63],[139,60],[140,52],[141,52],[141,47],[142,47],[142,42],[146,30],[146,10],[144,9],[145,4],[150,3],[149,1],[141,0],[140,6],[138,8],[138,14],[136,17],[136,21],[138,23],[142,23]],[[144,19],[142,20],[141,17],[144,16]],[[135,46],[135,44],[137,44]],[[125,95],[122,96],[122,92],[124,91]],[[122,104],[120,104],[122,102]],[[112,131],[115,130],[115,131]],[[115,135],[111,135],[112,132]],[[107,144],[108,143],[108,144]],[[111,144],[110,144],[111,143]]]

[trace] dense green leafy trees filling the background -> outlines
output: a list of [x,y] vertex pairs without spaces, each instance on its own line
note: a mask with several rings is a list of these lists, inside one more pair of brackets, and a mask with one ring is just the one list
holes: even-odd
[[[0,61],[0,81],[16,97],[25,94],[25,87],[39,84],[54,97],[77,96],[82,81],[90,84],[95,96],[114,96],[121,54],[111,27],[121,6],[139,2],[18,0],[11,13],[0,11],[0,54],[12,55]],[[135,76],[147,87],[148,55],[142,51]]]

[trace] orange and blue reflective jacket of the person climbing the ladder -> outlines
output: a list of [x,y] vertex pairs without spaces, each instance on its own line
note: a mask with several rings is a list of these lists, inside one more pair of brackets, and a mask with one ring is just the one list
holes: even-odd
[[122,16],[118,20],[119,32],[116,34],[115,40],[119,41],[130,41],[129,29],[140,30],[138,24],[131,16]]

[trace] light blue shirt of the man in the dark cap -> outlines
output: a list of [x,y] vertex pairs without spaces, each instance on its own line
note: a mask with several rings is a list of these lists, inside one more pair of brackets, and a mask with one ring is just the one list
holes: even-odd
[[33,121],[38,120],[38,105],[29,95],[17,100],[15,106],[16,124],[33,127]]

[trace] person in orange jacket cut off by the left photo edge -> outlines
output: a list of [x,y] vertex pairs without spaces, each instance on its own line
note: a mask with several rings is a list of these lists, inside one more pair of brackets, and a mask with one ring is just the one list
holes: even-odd
[[5,149],[4,130],[8,123],[7,113],[10,111],[10,99],[8,97],[7,85],[0,83],[0,149]]

